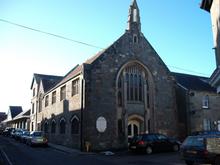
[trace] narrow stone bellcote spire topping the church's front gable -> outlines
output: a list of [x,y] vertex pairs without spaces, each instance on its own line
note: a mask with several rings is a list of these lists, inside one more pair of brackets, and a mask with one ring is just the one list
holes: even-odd
[[132,0],[128,15],[128,29],[141,32],[140,12],[136,0]]

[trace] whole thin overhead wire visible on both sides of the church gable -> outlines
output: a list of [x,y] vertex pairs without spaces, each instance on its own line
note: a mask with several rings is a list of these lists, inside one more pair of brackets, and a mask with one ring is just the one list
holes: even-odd
[[[31,28],[31,27],[24,26],[24,25],[21,25],[21,24],[17,24],[17,23],[7,21],[7,20],[4,20],[4,19],[0,19],[0,21],[4,22],[4,23],[11,24],[11,25],[14,25],[14,26],[18,26],[18,27],[21,27],[21,28],[25,28],[25,29],[28,29],[28,30],[32,30],[32,31],[35,31],[35,32],[38,32],[38,33],[42,33],[42,34],[50,35],[50,36],[57,37],[57,38],[60,38],[60,39],[64,39],[64,40],[67,40],[67,41],[71,41],[71,42],[75,42],[75,43],[78,43],[78,44],[86,45],[86,46],[89,46],[89,47],[93,47],[93,48],[97,48],[97,49],[104,49],[104,48],[101,48],[99,46],[95,46],[95,45],[92,45],[92,44],[89,44],[89,43],[86,43],[86,42],[73,40],[71,38],[67,38],[67,37],[57,35],[57,34],[54,34],[54,33],[45,32],[45,31],[42,31],[42,30],[39,30],[39,29],[35,29],[35,28]],[[191,72],[191,73],[195,73],[195,74],[209,76],[209,75],[204,74],[204,73],[199,73],[199,72],[196,72],[196,71],[179,68],[179,67],[176,67],[176,66],[171,66],[171,65],[167,65],[167,66],[178,69],[178,70],[186,71],[186,72]]]

